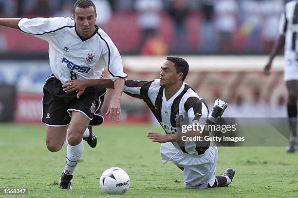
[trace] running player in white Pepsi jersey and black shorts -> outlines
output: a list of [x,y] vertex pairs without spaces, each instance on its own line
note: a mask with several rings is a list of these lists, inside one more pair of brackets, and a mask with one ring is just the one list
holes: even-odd
[[[104,88],[90,87],[79,99],[76,93],[66,94],[62,84],[74,79],[99,79],[104,66],[115,87],[110,102],[110,118],[121,116],[120,98],[124,86],[123,66],[118,49],[110,37],[95,25],[96,8],[91,0],[77,0],[74,18],[0,18],[0,25],[16,28],[49,43],[49,59],[53,75],[43,87],[43,116],[46,124],[46,145],[56,152],[67,145],[65,169],[60,188],[71,189],[75,166],[86,139],[96,146],[96,136],[88,126],[103,122],[100,108],[106,93]],[[88,128],[87,128],[88,127]],[[68,130],[68,132],[67,132]]]

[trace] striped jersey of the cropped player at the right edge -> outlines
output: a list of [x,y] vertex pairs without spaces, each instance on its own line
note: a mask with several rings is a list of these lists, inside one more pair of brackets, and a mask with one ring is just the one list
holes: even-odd
[[285,10],[280,16],[279,34],[285,36],[285,60],[296,61],[298,52],[298,1],[292,0],[285,4]]

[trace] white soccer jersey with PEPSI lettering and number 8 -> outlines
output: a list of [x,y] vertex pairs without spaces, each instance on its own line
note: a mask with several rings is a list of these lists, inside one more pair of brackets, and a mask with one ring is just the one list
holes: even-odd
[[126,78],[120,53],[111,38],[96,26],[96,32],[83,39],[71,17],[22,18],[19,29],[49,43],[50,66],[63,84],[75,79],[99,79],[104,66],[109,77]]

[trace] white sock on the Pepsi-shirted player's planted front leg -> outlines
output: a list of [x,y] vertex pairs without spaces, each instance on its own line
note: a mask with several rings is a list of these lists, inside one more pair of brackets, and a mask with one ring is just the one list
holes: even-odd
[[66,150],[66,163],[64,173],[67,175],[73,175],[75,171],[75,166],[77,165],[79,159],[84,150],[83,141],[81,141],[76,146],[67,145]]

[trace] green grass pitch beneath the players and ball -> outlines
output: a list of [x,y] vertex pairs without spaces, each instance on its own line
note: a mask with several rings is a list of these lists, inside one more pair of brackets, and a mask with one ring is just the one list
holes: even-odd
[[[298,197],[298,153],[283,147],[219,147],[217,174],[227,167],[236,171],[229,187],[185,189],[181,170],[162,165],[160,144],[146,138],[148,125],[103,125],[93,128],[97,147],[85,144],[75,170],[73,190],[58,189],[65,165],[65,149],[51,153],[45,146],[44,126],[0,125],[0,188],[28,188],[25,198],[99,198],[101,173],[118,166],[130,175],[127,198],[179,197]],[[175,182],[176,181],[176,182]],[[7,196],[0,196],[7,197]],[[14,197],[14,196],[11,196]]]

